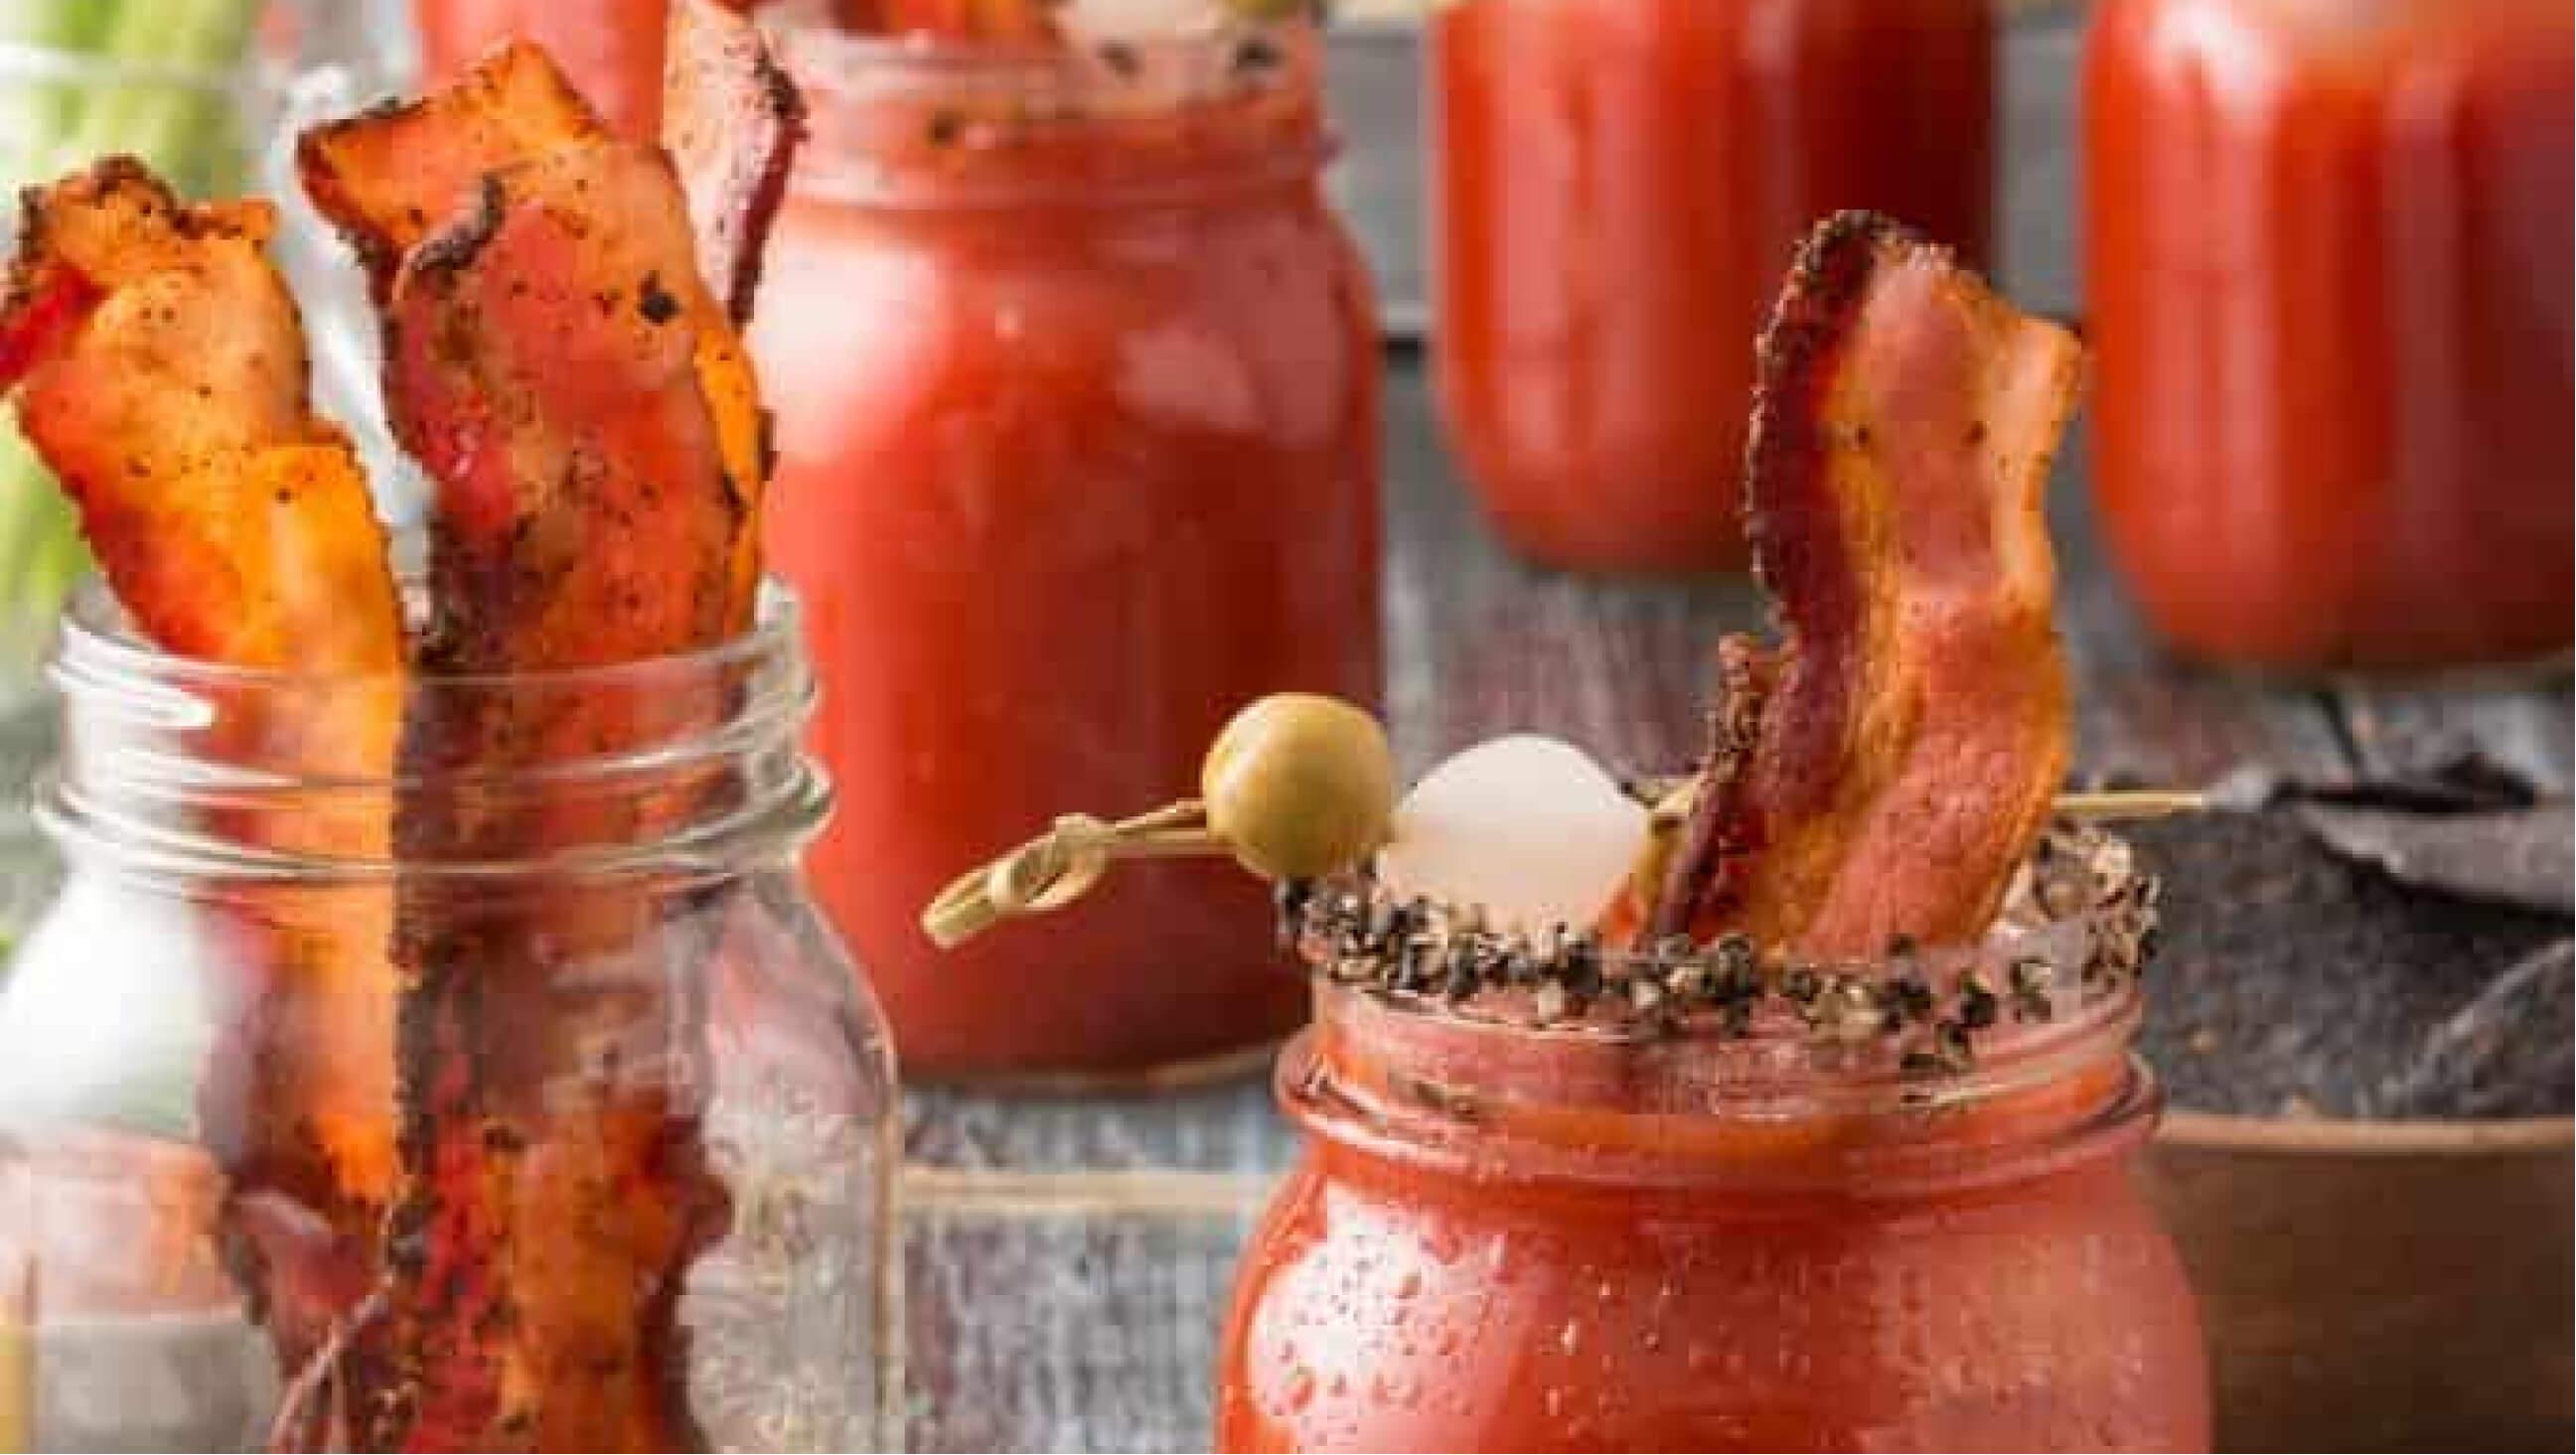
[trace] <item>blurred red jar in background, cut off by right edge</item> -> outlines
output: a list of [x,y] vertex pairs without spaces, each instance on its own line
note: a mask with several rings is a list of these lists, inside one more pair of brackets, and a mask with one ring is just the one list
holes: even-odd
[[2107,0],[2084,62],[2094,482],[2179,649],[2561,657],[2576,10]]

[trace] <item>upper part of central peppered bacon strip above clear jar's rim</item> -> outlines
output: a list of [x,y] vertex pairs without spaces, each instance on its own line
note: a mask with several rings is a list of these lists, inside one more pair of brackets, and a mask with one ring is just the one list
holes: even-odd
[[698,389],[698,327],[721,312],[693,258],[667,157],[626,142],[484,178],[412,252],[384,312],[386,407],[440,489],[433,667],[726,636],[742,505]]

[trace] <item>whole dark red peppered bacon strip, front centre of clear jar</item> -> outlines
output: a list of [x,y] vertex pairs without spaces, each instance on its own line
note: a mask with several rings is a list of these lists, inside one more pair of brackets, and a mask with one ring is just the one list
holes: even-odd
[[[435,139],[425,139],[435,142]],[[556,147],[482,180],[412,247],[389,306],[386,404],[438,484],[428,675],[526,675],[688,654],[734,634],[744,507],[701,389],[698,283],[667,157]],[[415,775],[507,775],[639,742],[644,706],[585,693],[422,693]],[[714,711],[714,708],[708,708]],[[685,796],[404,811],[407,860],[533,860],[644,842]],[[698,1442],[675,1300],[721,1228],[685,1066],[703,1025],[667,997],[667,937],[634,888],[402,896],[404,1182],[376,1347],[397,1388],[374,1442],[410,1450],[683,1450]],[[636,1022],[667,1043],[618,1051]]]

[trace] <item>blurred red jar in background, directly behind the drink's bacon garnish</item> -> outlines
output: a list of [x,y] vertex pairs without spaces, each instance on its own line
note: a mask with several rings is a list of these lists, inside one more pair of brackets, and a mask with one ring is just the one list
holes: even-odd
[[1471,0],[1430,36],[1432,368],[1525,556],[1739,567],[1762,330],[1878,209],[1986,265],[1991,0]]

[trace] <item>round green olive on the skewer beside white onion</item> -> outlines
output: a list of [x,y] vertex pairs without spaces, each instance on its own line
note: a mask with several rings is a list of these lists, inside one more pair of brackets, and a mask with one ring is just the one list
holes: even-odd
[[1378,718],[1340,698],[1278,693],[1216,734],[1198,770],[1216,832],[1262,878],[1316,878],[1386,842],[1396,760]]

